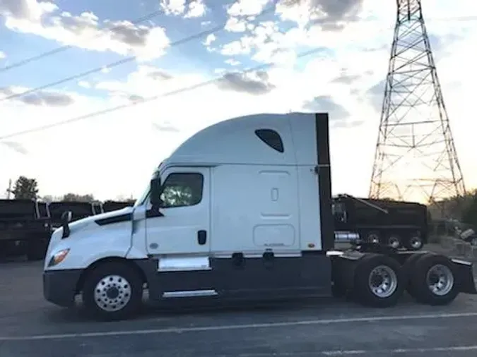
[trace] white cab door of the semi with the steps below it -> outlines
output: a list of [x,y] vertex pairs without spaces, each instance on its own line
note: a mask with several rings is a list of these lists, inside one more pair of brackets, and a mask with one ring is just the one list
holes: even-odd
[[146,250],[157,258],[152,299],[216,295],[211,249],[211,171],[171,168],[163,174],[163,207],[146,211]]

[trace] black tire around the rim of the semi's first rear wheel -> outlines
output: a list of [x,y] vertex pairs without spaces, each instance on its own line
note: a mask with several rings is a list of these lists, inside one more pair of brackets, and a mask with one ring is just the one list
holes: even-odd
[[[377,267],[386,267],[388,272],[392,272],[392,275],[394,275],[388,274],[389,281],[394,284],[394,290],[391,289],[388,296],[378,296],[370,286],[370,275]],[[399,262],[393,258],[387,255],[373,254],[363,257],[358,262],[355,270],[353,293],[359,303],[375,308],[388,308],[396,305],[405,288],[406,277]]]

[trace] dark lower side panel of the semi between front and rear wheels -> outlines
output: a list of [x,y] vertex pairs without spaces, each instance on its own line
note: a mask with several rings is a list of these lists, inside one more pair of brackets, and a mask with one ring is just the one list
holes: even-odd
[[160,271],[158,260],[136,261],[149,298],[276,299],[331,296],[331,261],[321,253],[283,258],[210,258],[207,270]]

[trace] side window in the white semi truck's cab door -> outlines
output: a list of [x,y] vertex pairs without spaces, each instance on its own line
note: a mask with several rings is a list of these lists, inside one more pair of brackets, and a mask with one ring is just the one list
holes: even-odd
[[178,172],[167,176],[164,182],[163,207],[183,207],[199,204],[202,200],[204,176],[197,173]]

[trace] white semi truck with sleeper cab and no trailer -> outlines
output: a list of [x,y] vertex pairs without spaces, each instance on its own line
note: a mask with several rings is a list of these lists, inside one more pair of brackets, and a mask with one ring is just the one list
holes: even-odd
[[[259,114],[209,126],[153,173],[134,207],[52,234],[45,298],[117,320],[143,290],[180,298],[346,294],[396,304],[406,289],[441,305],[477,294],[470,262],[363,243],[334,250],[328,114]],[[350,179],[353,179],[352,176]]]

